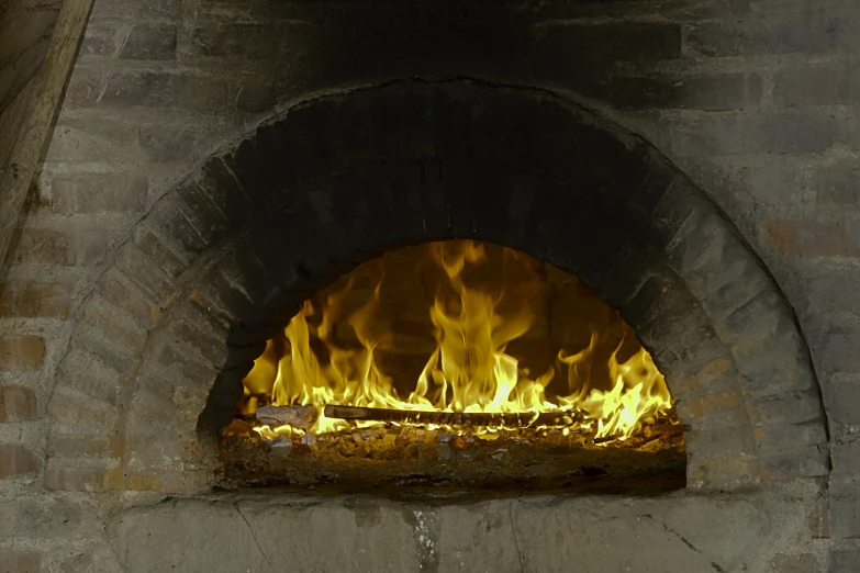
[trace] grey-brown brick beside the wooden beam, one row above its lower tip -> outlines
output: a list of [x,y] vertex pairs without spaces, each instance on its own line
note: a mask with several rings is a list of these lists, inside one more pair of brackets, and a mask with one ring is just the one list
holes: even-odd
[[53,213],[139,213],[149,188],[145,176],[89,173],[52,181],[40,204]]

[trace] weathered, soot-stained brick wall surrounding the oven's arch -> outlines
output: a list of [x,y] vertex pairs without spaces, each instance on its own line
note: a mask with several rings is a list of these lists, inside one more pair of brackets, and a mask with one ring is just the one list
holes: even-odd
[[[158,306],[132,286],[122,260],[113,265],[141,216],[194,166],[297,101],[410,77],[473,77],[554,90],[640,134],[739,228],[796,312],[833,460],[829,475],[801,480],[812,493],[783,498],[807,509],[802,547],[777,543],[782,557],[749,571],[857,569],[860,7],[458,4],[96,0],[0,297],[0,515],[12,516],[0,525],[0,563],[132,568],[134,536],[118,541],[124,529],[102,535],[101,524],[170,488],[146,482],[156,492],[120,495],[123,476],[103,459],[122,449],[111,436],[124,430],[118,412],[129,406],[134,357],[118,351],[105,368],[86,346],[69,348],[78,323],[81,339],[107,351],[105,336],[147,344],[135,325],[155,326]],[[91,372],[74,380],[85,387],[64,379],[62,359]],[[784,439],[817,438],[798,426]]]

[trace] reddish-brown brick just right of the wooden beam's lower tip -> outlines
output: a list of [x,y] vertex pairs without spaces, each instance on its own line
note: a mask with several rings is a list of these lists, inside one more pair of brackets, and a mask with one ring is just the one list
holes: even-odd
[[109,246],[108,229],[51,231],[27,228],[21,235],[19,262],[86,267],[99,265]]

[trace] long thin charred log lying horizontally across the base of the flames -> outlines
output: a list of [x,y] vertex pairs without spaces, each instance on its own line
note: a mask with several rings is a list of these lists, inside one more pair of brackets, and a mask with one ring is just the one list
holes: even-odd
[[482,427],[535,427],[535,426],[570,426],[582,422],[578,412],[533,412],[517,413],[483,413],[483,412],[422,412],[414,409],[367,408],[358,406],[325,406],[325,417],[368,420],[397,422],[411,424],[437,424],[444,426],[482,426]]

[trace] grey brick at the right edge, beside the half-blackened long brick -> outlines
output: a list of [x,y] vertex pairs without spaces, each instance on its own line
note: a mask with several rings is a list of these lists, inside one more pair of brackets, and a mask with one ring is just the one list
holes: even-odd
[[846,61],[788,68],[773,77],[773,98],[789,105],[830,105],[860,101],[860,77]]

